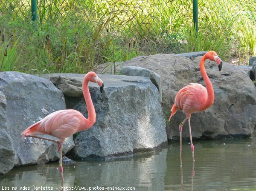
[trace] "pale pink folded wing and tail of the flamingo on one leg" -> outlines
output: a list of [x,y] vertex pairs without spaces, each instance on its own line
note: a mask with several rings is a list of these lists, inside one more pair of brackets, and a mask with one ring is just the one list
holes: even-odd
[[85,120],[79,111],[73,109],[55,111],[26,128],[22,132],[22,139],[26,136],[49,134],[64,141],[66,137],[80,131]]

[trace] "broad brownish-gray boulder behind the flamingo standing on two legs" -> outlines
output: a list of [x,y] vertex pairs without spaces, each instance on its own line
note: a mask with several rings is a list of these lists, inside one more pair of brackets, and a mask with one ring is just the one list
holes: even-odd
[[[126,66],[139,66],[159,74],[163,90],[162,107],[167,120],[180,88],[189,83],[201,83],[205,86],[199,70],[200,59],[201,57],[186,58],[174,54],[139,56],[119,64],[116,71]],[[208,139],[251,136],[256,125],[256,88],[248,74],[225,62],[221,71],[218,71],[215,62],[209,60],[205,62],[205,68],[215,90],[215,102],[206,111],[192,114],[192,136]],[[105,68],[105,73],[108,73],[108,69]],[[167,123],[169,140],[179,137],[178,126],[184,118],[185,114],[177,111]],[[183,128],[185,138],[189,137],[187,127],[186,123]]]

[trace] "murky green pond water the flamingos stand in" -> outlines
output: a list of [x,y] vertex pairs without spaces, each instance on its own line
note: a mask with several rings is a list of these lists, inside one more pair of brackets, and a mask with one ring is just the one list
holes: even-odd
[[116,187],[135,191],[256,190],[255,138],[198,141],[194,146],[194,176],[190,145],[184,141],[182,168],[179,143],[169,143],[160,151],[64,165],[63,185],[57,162],[14,168],[0,176],[0,189],[72,191],[113,190]]

